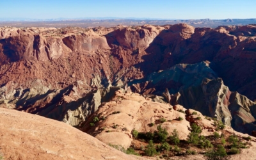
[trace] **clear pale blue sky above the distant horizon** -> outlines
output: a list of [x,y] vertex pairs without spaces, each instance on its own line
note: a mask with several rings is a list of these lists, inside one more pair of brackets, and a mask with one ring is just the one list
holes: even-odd
[[256,18],[255,0],[0,0],[1,18]]

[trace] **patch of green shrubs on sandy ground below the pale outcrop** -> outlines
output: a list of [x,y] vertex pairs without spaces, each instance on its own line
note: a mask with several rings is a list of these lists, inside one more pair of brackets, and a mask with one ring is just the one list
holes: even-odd
[[[164,118],[162,120],[162,122],[165,121]],[[218,123],[216,124],[216,128],[217,126],[220,129],[223,128],[220,122],[216,121],[216,123]],[[153,126],[154,124],[151,123],[148,125]],[[174,129],[168,135],[162,124],[157,125],[157,130],[154,132],[138,132],[134,129],[131,132],[134,141],[131,145],[132,148],[129,150],[142,154],[143,156],[159,155],[158,157],[163,157],[163,159],[168,159],[168,157],[172,156],[204,154],[206,151],[205,159],[226,160],[230,158],[228,155],[239,154],[240,148],[246,148],[247,142],[243,143],[240,141],[241,138],[237,138],[236,135],[231,135],[227,138],[224,135],[228,134],[226,131],[221,131],[221,135],[220,132],[216,131],[213,132],[212,136],[202,136],[202,129],[196,123],[191,124],[190,130],[191,132],[187,140],[179,140],[177,129]],[[243,139],[249,140],[250,138],[243,137]]]

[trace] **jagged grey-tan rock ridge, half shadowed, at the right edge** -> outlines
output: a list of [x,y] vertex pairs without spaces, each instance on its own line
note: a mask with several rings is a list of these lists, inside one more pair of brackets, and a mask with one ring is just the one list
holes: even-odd
[[251,134],[256,130],[256,103],[237,92],[230,92],[222,79],[204,79],[201,85],[191,86],[173,96],[184,108],[216,117],[236,131]]

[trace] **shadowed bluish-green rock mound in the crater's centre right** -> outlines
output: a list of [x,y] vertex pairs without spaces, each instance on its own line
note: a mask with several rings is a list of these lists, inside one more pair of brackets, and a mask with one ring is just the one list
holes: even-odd
[[209,67],[209,63],[203,61],[196,64],[179,64],[166,70],[159,70],[144,77],[143,79],[134,79],[129,84],[132,92],[148,94],[154,93],[162,95],[168,88],[170,94],[175,94],[191,86],[198,86],[202,80],[207,77],[216,79],[217,74]]

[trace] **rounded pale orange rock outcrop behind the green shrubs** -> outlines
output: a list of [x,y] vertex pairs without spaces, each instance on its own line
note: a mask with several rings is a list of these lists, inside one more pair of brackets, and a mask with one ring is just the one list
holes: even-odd
[[[118,90],[109,102],[104,102],[86,122],[79,126],[81,131],[95,136],[105,143],[122,145],[128,148],[132,143],[132,131],[154,132],[157,125],[166,129],[172,135],[174,129],[179,132],[180,140],[187,140],[191,123],[203,128],[202,135],[210,136],[216,131],[213,120],[206,120],[198,112],[191,116],[191,109],[186,114],[186,109],[180,105],[172,106],[168,103],[152,102],[138,93]],[[200,120],[196,118],[200,116]],[[182,118],[182,120],[179,120]],[[161,122],[161,120],[163,120]],[[154,125],[152,125],[154,124]]]

